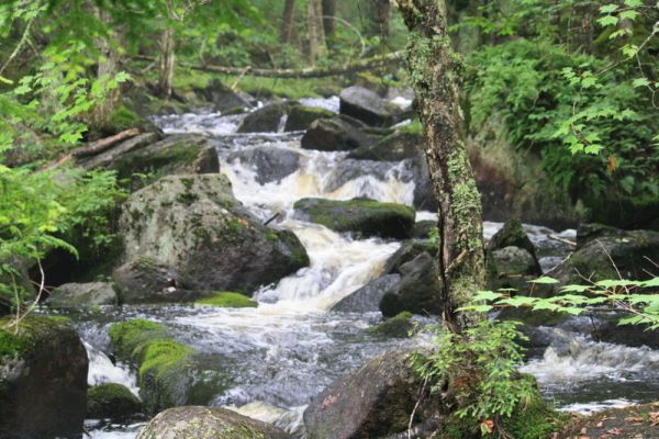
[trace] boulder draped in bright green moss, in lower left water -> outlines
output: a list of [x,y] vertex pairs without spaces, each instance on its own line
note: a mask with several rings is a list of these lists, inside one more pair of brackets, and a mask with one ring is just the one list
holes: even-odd
[[216,358],[176,341],[155,322],[134,319],[110,327],[118,358],[137,368],[139,395],[148,414],[186,404],[209,404],[228,378]]

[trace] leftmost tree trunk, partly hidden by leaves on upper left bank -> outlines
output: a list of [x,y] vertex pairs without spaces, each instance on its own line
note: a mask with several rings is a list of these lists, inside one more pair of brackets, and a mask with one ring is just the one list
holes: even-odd
[[[110,23],[110,18],[108,16],[107,12],[103,12],[98,8],[94,8],[93,12],[100,21],[107,24]],[[111,79],[119,72],[120,55],[115,47],[112,46],[112,42],[110,40],[113,36],[114,34],[109,34],[100,36],[96,40],[96,44],[100,53],[97,78],[100,80]],[[102,132],[110,127],[110,119],[116,109],[119,98],[119,88],[109,90],[105,93],[103,101],[94,105],[93,110],[89,113],[87,121],[90,130],[94,132]]]

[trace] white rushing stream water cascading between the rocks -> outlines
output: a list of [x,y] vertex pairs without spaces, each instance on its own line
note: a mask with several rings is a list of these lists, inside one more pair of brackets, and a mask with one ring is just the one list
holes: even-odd
[[[337,111],[337,100],[306,100],[305,104]],[[302,413],[309,399],[336,378],[369,358],[401,344],[366,329],[379,313],[337,314],[327,309],[345,295],[379,275],[400,243],[353,239],[295,217],[292,205],[304,196],[351,199],[412,204],[414,181],[409,164],[350,160],[345,153],[300,148],[301,133],[235,134],[243,116],[217,113],[156,119],[166,133],[201,133],[217,148],[221,171],[235,196],[260,219],[277,215],[276,226],[293,230],[310,256],[311,266],[257,291],[257,308],[216,309],[202,306],[130,306],[121,311],[76,316],[91,360],[90,384],[119,382],[137,392],[127,368],[113,365],[107,328],[112,322],[149,318],[167,325],[172,335],[213,356],[228,371],[232,385],[213,405],[303,434]],[[283,161],[277,161],[281,157]],[[278,167],[273,164],[283,164]],[[417,221],[435,217],[420,212]],[[502,224],[484,224],[485,238]],[[548,239],[545,227],[525,226],[548,270],[568,248]],[[562,237],[574,238],[574,230]],[[616,404],[647,401],[659,391],[659,352],[597,344],[561,329],[546,329],[551,340],[544,356],[524,371],[535,374],[549,398],[566,408],[588,412]],[[98,426],[93,438],[134,438],[141,424]]]

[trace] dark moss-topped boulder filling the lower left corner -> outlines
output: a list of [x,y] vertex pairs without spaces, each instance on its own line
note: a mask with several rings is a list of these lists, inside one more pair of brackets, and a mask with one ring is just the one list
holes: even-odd
[[62,317],[29,317],[19,333],[0,319],[0,437],[82,434],[87,351]]

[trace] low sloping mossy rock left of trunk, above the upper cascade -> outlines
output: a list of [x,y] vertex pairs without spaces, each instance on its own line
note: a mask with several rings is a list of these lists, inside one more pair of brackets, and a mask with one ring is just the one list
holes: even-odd
[[423,153],[423,136],[418,133],[398,131],[373,145],[364,145],[350,151],[348,158],[359,160],[400,161]]

